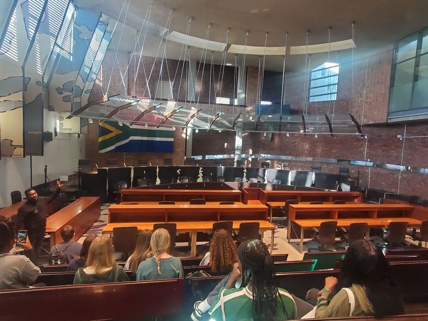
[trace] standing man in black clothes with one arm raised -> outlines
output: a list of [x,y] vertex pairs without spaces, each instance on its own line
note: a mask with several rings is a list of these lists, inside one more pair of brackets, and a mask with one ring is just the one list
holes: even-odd
[[31,244],[33,244],[36,258],[39,259],[41,242],[46,230],[46,205],[56,199],[61,192],[61,182],[56,181],[57,189],[47,197],[39,197],[33,188],[24,193],[27,201],[18,209],[18,230],[27,230]]

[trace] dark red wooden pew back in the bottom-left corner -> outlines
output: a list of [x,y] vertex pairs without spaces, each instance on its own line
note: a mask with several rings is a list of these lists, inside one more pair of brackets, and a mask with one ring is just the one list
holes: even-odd
[[0,319],[129,320],[179,315],[184,280],[134,281],[0,291]]

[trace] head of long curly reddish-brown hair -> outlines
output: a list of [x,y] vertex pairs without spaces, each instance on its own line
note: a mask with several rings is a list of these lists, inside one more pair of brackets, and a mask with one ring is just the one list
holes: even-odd
[[211,270],[213,272],[232,271],[235,262],[237,262],[237,250],[232,235],[224,229],[215,231],[209,246]]

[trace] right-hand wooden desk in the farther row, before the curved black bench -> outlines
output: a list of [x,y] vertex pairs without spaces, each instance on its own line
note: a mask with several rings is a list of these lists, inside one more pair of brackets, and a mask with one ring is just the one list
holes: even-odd
[[272,201],[287,200],[300,201],[353,201],[361,202],[361,193],[359,192],[336,192],[336,191],[263,191],[261,195],[262,203]]

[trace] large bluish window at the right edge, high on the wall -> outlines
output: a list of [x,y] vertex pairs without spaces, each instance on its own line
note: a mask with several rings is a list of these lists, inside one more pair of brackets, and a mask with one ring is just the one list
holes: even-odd
[[389,90],[389,118],[418,118],[428,111],[428,29],[399,40],[394,46],[394,59]]

